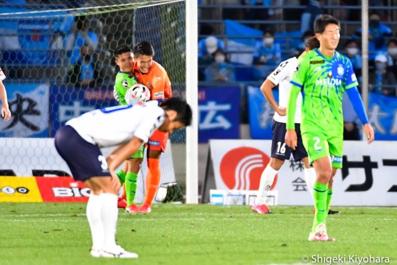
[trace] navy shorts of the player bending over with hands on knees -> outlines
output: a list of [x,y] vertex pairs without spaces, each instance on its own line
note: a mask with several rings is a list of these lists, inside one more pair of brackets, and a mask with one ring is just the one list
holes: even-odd
[[55,148],[69,166],[73,179],[110,177],[109,167],[98,146],[84,140],[71,126],[63,126],[55,134]]

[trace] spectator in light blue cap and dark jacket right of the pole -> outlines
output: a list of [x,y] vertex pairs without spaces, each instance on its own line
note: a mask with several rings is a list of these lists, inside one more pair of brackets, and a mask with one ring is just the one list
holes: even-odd
[[378,54],[375,57],[376,70],[369,75],[371,90],[386,96],[396,96],[397,80],[394,73],[387,69],[386,55]]

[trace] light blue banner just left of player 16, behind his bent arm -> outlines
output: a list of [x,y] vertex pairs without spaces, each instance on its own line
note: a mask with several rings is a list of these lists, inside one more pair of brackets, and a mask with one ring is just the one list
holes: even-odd
[[[273,90],[274,99],[278,102],[278,90]],[[247,101],[251,138],[271,139],[274,110],[266,101],[259,87],[247,86]]]

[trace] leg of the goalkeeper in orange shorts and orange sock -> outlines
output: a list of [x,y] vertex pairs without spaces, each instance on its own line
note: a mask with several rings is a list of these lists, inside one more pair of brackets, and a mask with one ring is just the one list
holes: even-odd
[[141,212],[150,212],[151,204],[160,185],[161,170],[160,156],[167,147],[168,133],[156,130],[149,139],[147,145],[147,175],[145,185],[145,199],[143,200]]

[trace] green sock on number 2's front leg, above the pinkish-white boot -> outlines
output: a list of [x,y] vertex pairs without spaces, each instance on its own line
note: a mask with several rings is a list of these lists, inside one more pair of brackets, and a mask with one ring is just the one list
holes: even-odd
[[[314,222],[312,232],[315,232],[316,226],[319,223],[326,222],[326,207],[327,207],[327,188],[328,184],[321,184],[315,181],[313,186],[314,207],[316,214],[314,215]],[[328,213],[328,212],[327,212]]]

